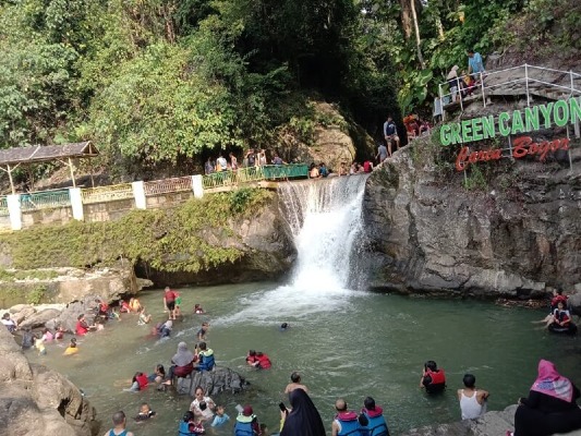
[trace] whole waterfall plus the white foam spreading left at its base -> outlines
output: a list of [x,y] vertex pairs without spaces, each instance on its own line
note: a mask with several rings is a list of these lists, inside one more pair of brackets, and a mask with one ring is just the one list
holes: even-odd
[[340,311],[355,292],[353,253],[361,242],[361,211],[367,175],[281,183],[282,215],[289,222],[298,261],[289,283],[259,289],[237,301],[220,324],[273,324]]

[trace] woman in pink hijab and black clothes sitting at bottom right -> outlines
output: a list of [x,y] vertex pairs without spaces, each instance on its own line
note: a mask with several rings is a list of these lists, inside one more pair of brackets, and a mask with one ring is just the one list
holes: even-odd
[[571,380],[561,376],[553,362],[542,359],[529,398],[519,400],[515,436],[549,436],[581,428],[579,396]]

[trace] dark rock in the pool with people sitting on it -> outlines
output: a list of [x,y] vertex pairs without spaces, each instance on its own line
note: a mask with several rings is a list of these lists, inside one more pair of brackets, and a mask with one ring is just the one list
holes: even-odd
[[194,397],[195,388],[202,386],[208,396],[215,396],[220,392],[235,393],[240,392],[246,382],[237,372],[216,366],[214,371],[194,372],[193,378],[178,378],[175,389],[178,393],[190,393]]

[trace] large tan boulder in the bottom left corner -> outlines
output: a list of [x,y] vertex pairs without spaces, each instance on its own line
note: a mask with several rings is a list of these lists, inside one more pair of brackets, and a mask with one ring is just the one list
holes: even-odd
[[60,374],[31,366],[0,329],[0,428],[5,435],[96,436],[95,410]]

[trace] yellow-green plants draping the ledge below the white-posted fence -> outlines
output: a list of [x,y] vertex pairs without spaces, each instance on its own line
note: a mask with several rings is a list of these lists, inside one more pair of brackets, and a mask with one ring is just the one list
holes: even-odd
[[70,222],[0,235],[16,268],[144,262],[161,271],[193,271],[233,263],[242,252],[231,223],[271,197],[241,190],[192,199],[174,209],[133,210],[117,221]]

